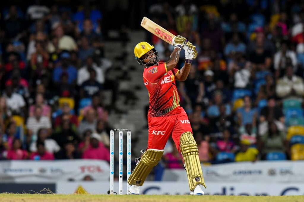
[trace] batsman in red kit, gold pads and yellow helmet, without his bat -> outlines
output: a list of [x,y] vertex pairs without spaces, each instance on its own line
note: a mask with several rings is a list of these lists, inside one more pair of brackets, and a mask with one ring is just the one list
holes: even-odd
[[[185,37],[174,37],[174,50],[166,62],[160,62],[154,46],[140,42],[134,48],[135,59],[144,67],[143,82],[149,93],[148,147],[137,161],[128,179],[131,194],[139,194],[146,177],[161,160],[165,144],[170,135],[182,154],[188,175],[191,195],[204,195],[200,185],[206,188],[198,148],[192,135],[192,128],[185,110],[179,105],[175,80],[185,81],[192,60],[196,58],[195,46]],[[179,60],[181,49],[185,50],[185,65],[174,68]]]

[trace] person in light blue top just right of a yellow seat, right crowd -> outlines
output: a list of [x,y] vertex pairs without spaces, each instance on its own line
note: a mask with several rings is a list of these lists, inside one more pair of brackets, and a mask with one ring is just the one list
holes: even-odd
[[256,127],[257,110],[251,107],[249,96],[244,97],[244,107],[237,110],[237,118],[240,126],[252,124],[252,127]]

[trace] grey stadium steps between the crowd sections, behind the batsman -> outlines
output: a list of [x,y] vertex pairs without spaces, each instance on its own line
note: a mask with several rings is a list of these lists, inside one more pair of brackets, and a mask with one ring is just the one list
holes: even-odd
[[[145,106],[149,102],[147,89],[143,85],[143,67],[139,66],[134,59],[134,46],[144,41],[146,38],[145,31],[128,31],[129,41],[127,43],[110,41],[105,43],[105,57],[113,61],[114,70],[109,72],[111,78],[119,79],[119,91],[131,90],[135,93],[137,100],[132,105],[131,102],[125,102],[123,95],[118,96],[116,105],[119,109],[127,109],[127,114],[116,114],[112,112],[109,115],[109,122],[112,127],[131,129],[132,135],[132,162],[135,157],[141,155],[140,150],[147,148],[148,130]],[[122,60],[117,60],[125,54]],[[125,73],[129,75],[124,77]],[[139,87],[139,88],[137,88]],[[107,93],[107,103],[111,101],[111,93]],[[133,126],[133,129],[130,128]],[[136,141],[136,143],[135,143]],[[126,147],[124,147],[125,149]],[[117,152],[116,152],[117,154]],[[118,157],[118,156],[117,156]]]

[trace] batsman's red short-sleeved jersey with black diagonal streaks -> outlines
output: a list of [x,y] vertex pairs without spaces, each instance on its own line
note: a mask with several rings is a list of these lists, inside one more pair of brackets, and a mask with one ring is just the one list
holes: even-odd
[[175,85],[178,69],[167,71],[166,64],[143,70],[143,82],[149,92],[148,117],[169,116],[180,112],[179,96]]

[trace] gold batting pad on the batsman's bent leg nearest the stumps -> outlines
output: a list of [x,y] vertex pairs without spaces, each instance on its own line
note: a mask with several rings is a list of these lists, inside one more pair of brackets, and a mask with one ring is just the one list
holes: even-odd
[[152,168],[161,160],[164,150],[148,149],[143,153],[139,163],[136,165],[134,171],[128,179],[128,184],[143,186],[148,174]]

